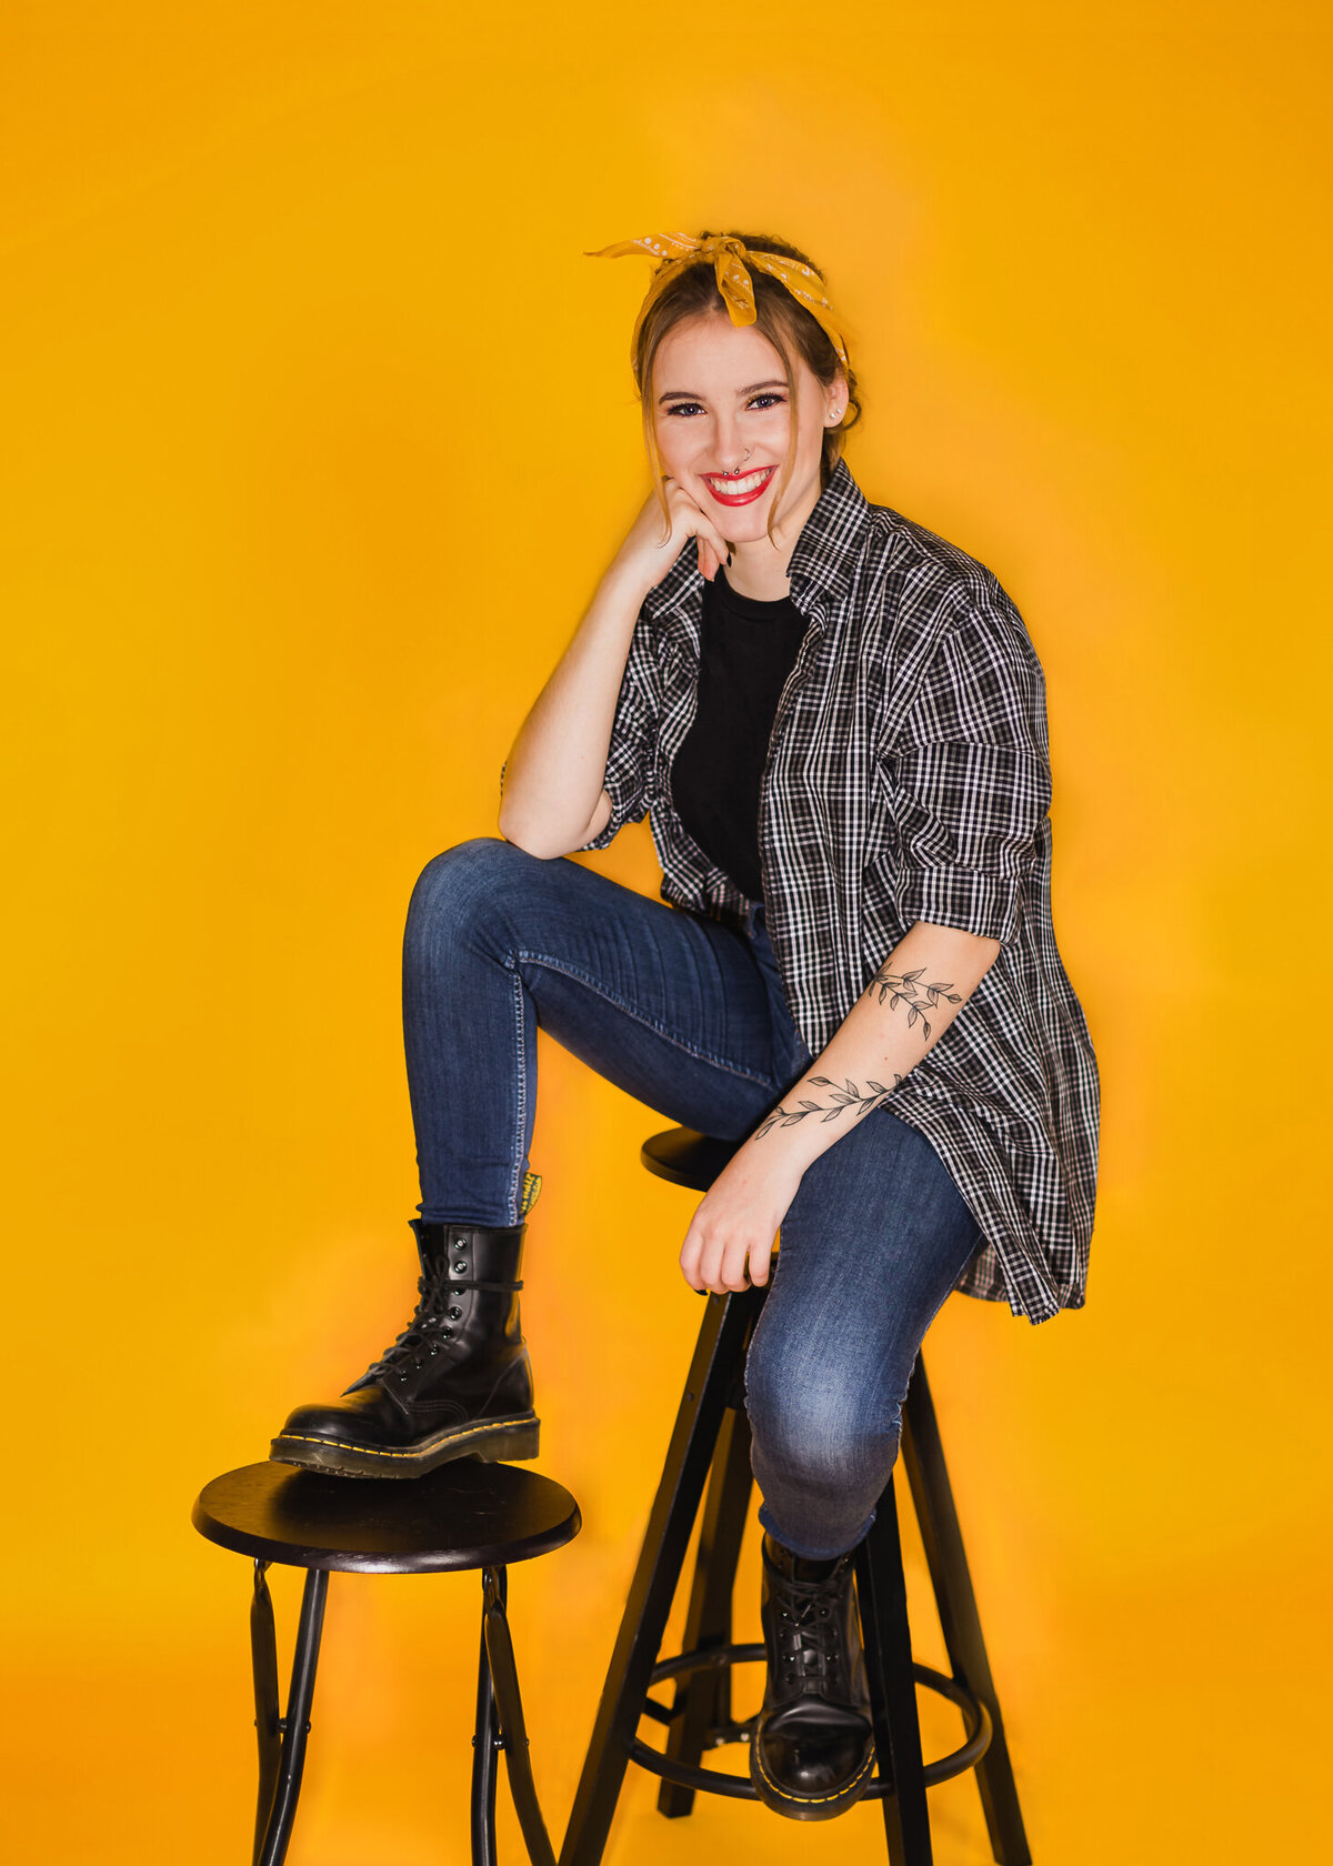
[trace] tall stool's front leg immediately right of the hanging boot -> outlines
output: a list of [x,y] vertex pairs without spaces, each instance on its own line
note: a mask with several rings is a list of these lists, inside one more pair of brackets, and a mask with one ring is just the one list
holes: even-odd
[[876,1506],[870,1534],[857,1549],[855,1566],[879,1776],[892,1782],[892,1793],[881,1803],[889,1859],[892,1866],[932,1866],[907,1584],[892,1478]]

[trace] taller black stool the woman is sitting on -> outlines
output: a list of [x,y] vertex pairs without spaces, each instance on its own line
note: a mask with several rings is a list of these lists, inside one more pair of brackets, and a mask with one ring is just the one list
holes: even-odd
[[[663,1179],[706,1192],[734,1151],[734,1144],[676,1127],[644,1142],[642,1163]],[[749,1739],[754,1719],[745,1724],[732,1719],[730,1668],[764,1659],[762,1644],[732,1642],[732,1590],[752,1483],[743,1370],[764,1295],[765,1289],[745,1289],[708,1299],[560,1849],[560,1866],[597,1866],[601,1860],[629,1762],[663,1776],[657,1808],[668,1817],[689,1814],[698,1789],[758,1799],[749,1775],[723,1775],[702,1769],[700,1762],[706,1748]],[[915,1664],[911,1657],[898,1513],[889,1480],[874,1528],[855,1553],[877,1756],[877,1773],[866,1793],[883,1804],[892,1866],[930,1866],[926,1788],[975,1769],[995,1859],[1001,1866],[1031,1866],[920,1358],[904,1405],[902,1461],[952,1676]],[[685,1620],[685,1651],[674,1659],[659,1659],[706,1480],[708,1502]],[[676,1679],[670,1706],[648,1694],[652,1685],[665,1679]],[[917,1685],[956,1704],[965,1724],[961,1747],[930,1763],[920,1754]],[[640,1741],[637,1730],[642,1717],[668,1726],[665,1754]]]

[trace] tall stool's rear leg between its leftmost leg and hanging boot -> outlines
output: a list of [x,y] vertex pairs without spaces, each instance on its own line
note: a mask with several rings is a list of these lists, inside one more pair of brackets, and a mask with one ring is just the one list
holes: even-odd
[[[732,1638],[732,1592],[752,1483],[751,1422],[741,1405],[726,1413],[713,1455],[681,1651],[708,1651],[715,1646],[726,1646]],[[666,1754],[695,1769],[704,1758],[709,1734],[723,1730],[732,1720],[730,1670],[719,1666],[709,1672],[691,1672],[676,1687],[672,1713]],[[668,1821],[678,1821],[693,1806],[693,1788],[663,1782],[657,1791],[659,1814],[665,1814]]]

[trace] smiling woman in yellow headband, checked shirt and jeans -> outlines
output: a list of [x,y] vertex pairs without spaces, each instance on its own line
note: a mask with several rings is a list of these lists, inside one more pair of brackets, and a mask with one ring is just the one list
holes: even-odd
[[[519,1267],[536,1030],[743,1142],[680,1252],[764,1284],[747,1411],[769,1657],[751,1773],[797,1819],[872,1769],[851,1590],[950,1289],[1085,1301],[1098,1069],[1051,927],[1045,692],[991,571],[870,504],[823,282],[765,235],[659,265],[631,356],[653,493],[500,773],[498,838],[413,892],[416,1314],[273,1455],[530,1457]],[[652,812],[661,901],[562,856]]]

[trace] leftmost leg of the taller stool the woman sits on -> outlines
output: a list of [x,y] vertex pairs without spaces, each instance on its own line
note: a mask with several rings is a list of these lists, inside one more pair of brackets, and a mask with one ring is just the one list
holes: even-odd
[[607,1845],[629,1745],[648,1696],[648,1676],[657,1663],[726,1400],[762,1299],[764,1289],[708,1299],[560,1847],[560,1866],[597,1866]]

